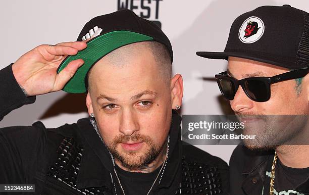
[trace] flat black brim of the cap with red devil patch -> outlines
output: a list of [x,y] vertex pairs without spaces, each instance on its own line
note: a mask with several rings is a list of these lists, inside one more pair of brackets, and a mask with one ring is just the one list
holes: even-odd
[[196,52],[197,56],[209,59],[221,59],[221,60],[228,60],[229,57],[237,57],[237,58],[244,58],[248,60],[254,60],[258,62],[264,62],[288,69],[295,69],[296,68],[304,68],[305,65],[296,65],[293,61],[287,60],[280,60],[272,58],[272,55],[261,55],[258,53],[249,55],[249,54],[242,54],[239,52]]

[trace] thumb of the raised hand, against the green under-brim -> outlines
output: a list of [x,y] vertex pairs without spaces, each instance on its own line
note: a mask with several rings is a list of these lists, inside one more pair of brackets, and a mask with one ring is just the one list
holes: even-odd
[[70,62],[57,76],[54,84],[54,91],[63,89],[65,84],[74,76],[77,69],[84,64],[82,59]]

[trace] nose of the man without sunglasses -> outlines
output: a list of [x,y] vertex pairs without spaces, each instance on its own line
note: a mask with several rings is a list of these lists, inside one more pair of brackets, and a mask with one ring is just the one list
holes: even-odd
[[124,135],[130,136],[139,130],[137,116],[134,111],[124,109],[121,114],[119,131]]

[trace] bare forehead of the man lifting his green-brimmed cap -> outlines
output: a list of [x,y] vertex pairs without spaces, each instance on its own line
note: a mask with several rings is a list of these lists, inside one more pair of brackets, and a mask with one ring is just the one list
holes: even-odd
[[158,64],[149,50],[134,51],[104,57],[91,69],[89,85],[95,93],[131,95],[143,90],[160,89]]

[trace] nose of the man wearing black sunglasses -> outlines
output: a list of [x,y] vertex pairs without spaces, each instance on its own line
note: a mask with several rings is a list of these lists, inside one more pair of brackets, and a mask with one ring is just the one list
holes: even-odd
[[253,108],[253,101],[249,99],[242,87],[239,86],[234,100],[230,101],[230,105],[234,112],[246,112]]

